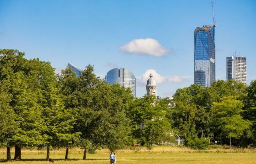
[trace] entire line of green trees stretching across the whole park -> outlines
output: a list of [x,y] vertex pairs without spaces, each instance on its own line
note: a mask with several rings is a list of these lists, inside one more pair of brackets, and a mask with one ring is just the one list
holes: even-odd
[[21,159],[21,148],[47,147],[46,160],[50,148],[65,147],[68,159],[68,149],[80,147],[86,160],[88,151],[137,143],[151,149],[175,142],[176,136],[201,149],[214,141],[230,148],[256,144],[256,81],[191,85],[178,89],[173,99],[155,101],[106,84],[92,65],[80,77],[70,68],[56,75],[49,62],[24,55],[0,50],[0,147],[7,148],[7,160],[11,147],[14,159]]

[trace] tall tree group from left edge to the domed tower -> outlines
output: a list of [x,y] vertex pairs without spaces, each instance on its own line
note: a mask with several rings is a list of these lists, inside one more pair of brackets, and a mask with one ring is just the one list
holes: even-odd
[[127,144],[125,111],[131,90],[106,85],[88,65],[82,77],[66,68],[54,73],[49,62],[25,59],[18,50],[0,50],[0,146],[21,148],[71,146],[114,151]]

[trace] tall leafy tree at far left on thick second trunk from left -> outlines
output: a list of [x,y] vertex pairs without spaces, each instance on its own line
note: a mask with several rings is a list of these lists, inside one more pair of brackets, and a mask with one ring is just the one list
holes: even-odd
[[40,91],[36,87],[40,77],[35,76],[35,67],[30,67],[31,60],[23,58],[24,55],[18,50],[0,50],[1,85],[5,86],[4,92],[11,95],[9,105],[19,125],[18,132],[9,142],[15,145],[14,159],[21,159],[21,147],[43,143],[40,132],[44,122],[41,106],[37,103]]

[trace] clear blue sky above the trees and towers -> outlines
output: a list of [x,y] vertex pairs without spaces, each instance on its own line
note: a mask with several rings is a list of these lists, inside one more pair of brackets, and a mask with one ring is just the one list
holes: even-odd
[[[241,51],[249,84],[256,79],[256,1],[215,0],[214,14],[216,79],[226,79],[225,57]],[[114,67],[127,68],[136,77],[137,97],[146,93],[150,68],[161,97],[193,83],[194,30],[203,25],[212,25],[208,0],[0,0],[0,48],[50,61],[57,70],[68,62],[83,69],[91,63],[102,78]],[[146,38],[163,53],[120,48]]]

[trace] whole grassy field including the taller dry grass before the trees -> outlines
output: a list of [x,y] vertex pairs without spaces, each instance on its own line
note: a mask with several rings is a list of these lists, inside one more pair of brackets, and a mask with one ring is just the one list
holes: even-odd
[[[144,147],[135,148],[137,151],[146,150]],[[169,147],[159,146],[153,148],[152,152],[117,152],[118,164],[256,164],[256,151],[221,151],[223,147],[212,148],[219,152],[164,152],[163,150],[188,150],[186,147]],[[109,152],[106,150],[98,151],[96,154],[87,154],[87,160],[82,160],[83,152],[69,152],[69,160],[64,160],[65,148],[50,152],[50,158],[54,159],[54,164],[108,164]],[[129,151],[130,148],[123,149]],[[5,162],[5,149],[0,149],[0,162]],[[12,148],[14,151],[14,148]],[[28,152],[38,151],[36,149],[22,149],[22,161],[10,161],[6,164],[43,164],[49,163],[45,161],[45,152]],[[42,149],[41,151],[45,151]],[[54,150],[51,150],[54,151]],[[70,151],[81,151],[79,148],[71,148]],[[240,153],[241,152],[241,153]],[[254,152],[254,153],[253,153]],[[12,152],[11,157],[14,157]]]

